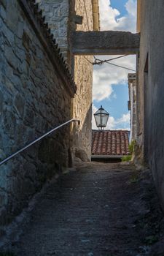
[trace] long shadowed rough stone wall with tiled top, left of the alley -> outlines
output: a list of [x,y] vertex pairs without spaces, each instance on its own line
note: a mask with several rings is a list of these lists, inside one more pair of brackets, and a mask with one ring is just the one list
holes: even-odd
[[[0,0],[0,160],[71,118],[74,83],[34,10],[32,1]],[[68,165],[69,132],[64,127],[0,166],[1,225]]]

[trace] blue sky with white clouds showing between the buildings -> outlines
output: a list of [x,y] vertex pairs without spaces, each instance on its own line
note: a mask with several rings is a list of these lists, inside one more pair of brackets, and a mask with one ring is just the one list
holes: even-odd
[[[101,30],[136,31],[136,0],[99,0]],[[111,59],[117,56],[97,56]],[[126,56],[114,64],[136,69],[136,57]],[[109,64],[93,69],[93,113],[101,105],[109,112],[106,129],[130,129],[128,111],[128,73]],[[95,121],[93,119],[93,129]]]

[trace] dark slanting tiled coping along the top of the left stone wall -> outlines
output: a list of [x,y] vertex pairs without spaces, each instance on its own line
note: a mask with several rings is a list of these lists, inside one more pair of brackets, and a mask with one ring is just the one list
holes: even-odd
[[42,43],[44,50],[47,52],[50,61],[58,71],[64,86],[68,90],[70,96],[74,97],[74,94],[77,91],[77,86],[74,83],[66,61],[63,59],[62,53],[60,53],[58,44],[56,44],[55,39],[53,39],[48,23],[44,23],[45,18],[42,16],[42,10],[39,10],[39,5],[35,4],[35,0],[18,0],[18,2],[23,9],[26,18],[28,18],[29,23],[31,23],[36,36]]

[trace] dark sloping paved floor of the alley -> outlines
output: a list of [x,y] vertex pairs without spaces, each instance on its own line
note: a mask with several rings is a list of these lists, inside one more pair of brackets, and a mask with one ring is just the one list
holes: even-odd
[[160,255],[151,252],[161,236],[157,218],[163,222],[152,193],[149,170],[96,162],[77,167],[50,184],[12,251],[17,256]]

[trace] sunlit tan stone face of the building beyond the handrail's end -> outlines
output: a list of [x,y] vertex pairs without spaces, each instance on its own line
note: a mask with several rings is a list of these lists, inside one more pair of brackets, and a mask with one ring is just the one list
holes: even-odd
[[[77,30],[92,31],[92,1],[75,1],[75,11],[83,17],[82,25],[77,25]],[[89,61],[93,61],[93,56],[74,56],[77,94],[73,99],[73,116],[81,121],[79,134],[74,138],[74,151],[75,156],[83,160],[90,160],[91,157],[93,65]]]

